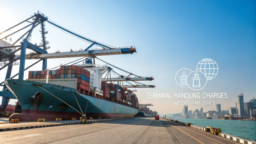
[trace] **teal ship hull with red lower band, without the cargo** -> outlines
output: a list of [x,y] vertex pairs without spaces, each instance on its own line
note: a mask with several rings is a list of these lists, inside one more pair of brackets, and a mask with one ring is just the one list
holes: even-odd
[[[69,87],[18,79],[6,80],[5,84],[19,100],[22,108],[21,114],[11,115],[9,120],[20,119],[21,122],[37,121],[39,118],[44,118],[46,121],[56,118],[70,120],[79,119],[82,112],[86,117],[93,118],[132,117],[139,111],[136,108],[83,95],[78,93],[77,89]],[[31,96],[35,92],[42,93],[40,98],[36,97],[37,100]]]

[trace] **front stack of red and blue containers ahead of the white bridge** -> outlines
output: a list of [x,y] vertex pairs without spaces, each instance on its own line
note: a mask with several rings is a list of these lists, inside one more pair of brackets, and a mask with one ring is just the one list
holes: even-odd
[[29,71],[28,80],[76,88],[79,93],[86,95],[90,91],[90,72],[78,66],[60,66],[60,70]]

